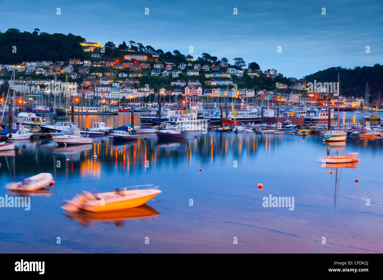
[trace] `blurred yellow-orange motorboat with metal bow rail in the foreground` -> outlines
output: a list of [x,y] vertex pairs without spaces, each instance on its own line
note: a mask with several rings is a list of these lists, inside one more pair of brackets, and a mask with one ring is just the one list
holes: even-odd
[[[146,189],[142,189],[143,187],[146,187]],[[158,186],[153,185],[133,186],[130,188],[136,189],[128,190],[128,188],[124,188],[116,189],[113,192],[94,194],[82,191],[72,200],[64,200],[66,204],[61,208],[70,212],[79,212],[81,210],[95,213],[119,211],[144,205],[157,194],[162,193]]]

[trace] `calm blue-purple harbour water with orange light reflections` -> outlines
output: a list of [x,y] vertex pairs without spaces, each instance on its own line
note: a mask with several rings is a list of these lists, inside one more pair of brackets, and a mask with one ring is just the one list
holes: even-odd
[[[346,121],[355,117],[347,114]],[[80,126],[118,126],[129,117],[83,117]],[[51,139],[23,141],[14,155],[2,152],[1,186],[41,172],[52,173],[56,183],[31,197],[29,211],[0,208],[0,251],[383,252],[380,138],[348,137],[346,145],[328,146],[319,135],[208,132],[178,142],[145,136],[119,144],[96,138],[92,145],[67,148]],[[359,152],[357,168],[322,168],[317,161],[345,152]],[[81,190],[147,184],[163,192],[149,207],[119,215],[68,215],[60,207]],[[17,196],[0,188],[5,194]],[[263,207],[270,194],[294,197],[294,210]]]

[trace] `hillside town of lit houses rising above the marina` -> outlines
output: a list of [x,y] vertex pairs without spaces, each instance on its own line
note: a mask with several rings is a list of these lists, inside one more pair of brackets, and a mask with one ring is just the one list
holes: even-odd
[[[218,97],[263,99],[268,102],[317,103],[333,106],[338,97],[333,92],[314,89],[308,92],[305,79],[288,78],[289,85],[278,80],[283,75],[275,69],[265,71],[230,65],[226,58],[219,63],[200,63],[192,55],[185,62],[161,59],[154,53],[140,53],[137,49],[123,49],[123,57],[108,60],[100,43],[82,42],[87,53],[85,59],[68,58],[68,61],[24,61],[20,64],[0,64],[0,85],[8,84],[16,93],[32,102],[46,97],[52,80],[76,84],[75,95],[84,100],[118,102],[159,96]],[[173,52],[174,55],[179,53]],[[256,63],[255,63],[256,64]],[[242,65],[240,65],[242,66]],[[249,64],[251,66],[251,63]],[[256,68],[256,67],[255,67]],[[15,80],[8,80],[11,71],[17,72]],[[257,87],[241,87],[262,77],[272,84],[269,90]],[[274,86],[275,85],[275,86]],[[5,95],[3,89],[2,102]],[[65,96],[65,93],[64,93]],[[28,102],[28,101],[24,101]],[[28,102],[29,103],[29,102]],[[363,98],[339,97],[340,107],[359,107]]]

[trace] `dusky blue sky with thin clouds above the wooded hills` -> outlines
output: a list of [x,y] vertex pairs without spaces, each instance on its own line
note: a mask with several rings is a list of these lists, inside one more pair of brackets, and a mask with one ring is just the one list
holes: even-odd
[[[263,71],[275,69],[298,79],[334,66],[383,64],[382,0],[0,3],[1,32],[38,28],[72,33],[102,45],[133,40],[185,55],[192,46],[194,58],[207,52],[234,63],[233,58],[242,57],[247,64],[257,62]],[[146,8],[149,15],[145,15]],[[326,15],[322,15],[323,8]]]

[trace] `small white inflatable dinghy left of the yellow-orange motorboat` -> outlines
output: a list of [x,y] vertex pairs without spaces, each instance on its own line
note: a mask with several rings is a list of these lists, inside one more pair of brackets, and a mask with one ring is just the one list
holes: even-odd
[[5,185],[5,188],[11,190],[37,191],[38,189],[42,189],[53,183],[54,181],[51,173],[40,173],[19,182],[8,183]]

